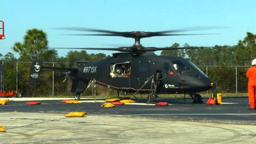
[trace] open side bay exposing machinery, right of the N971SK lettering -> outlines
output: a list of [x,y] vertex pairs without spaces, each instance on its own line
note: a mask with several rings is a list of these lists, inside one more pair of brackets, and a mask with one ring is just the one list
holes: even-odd
[[111,78],[130,78],[130,75],[131,61],[110,64]]

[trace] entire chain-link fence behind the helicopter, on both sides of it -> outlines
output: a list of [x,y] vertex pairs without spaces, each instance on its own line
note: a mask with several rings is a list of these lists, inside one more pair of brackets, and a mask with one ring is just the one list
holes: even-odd
[[[25,95],[71,95],[72,80],[63,73],[41,71],[35,87],[29,86],[31,62],[3,62],[1,72],[1,90],[18,90]],[[44,62],[45,66],[75,67],[76,63]],[[212,81],[217,83],[222,93],[246,93],[246,71],[249,66],[198,66]],[[65,82],[63,82],[66,80]],[[106,93],[111,93],[106,90]],[[89,90],[88,95],[91,95]]]

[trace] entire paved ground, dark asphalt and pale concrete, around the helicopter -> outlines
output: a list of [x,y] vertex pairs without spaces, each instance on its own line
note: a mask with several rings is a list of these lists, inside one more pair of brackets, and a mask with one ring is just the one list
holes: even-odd
[[[223,105],[161,98],[168,106],[137,103],[102,108],[101,99],[13,98],[0,105],[0,143],[254,143],[256,110],[247,98],[223,99]],[[28,101],[40,105],[26,105]],[[85,111],[84,117],[65,117]]]

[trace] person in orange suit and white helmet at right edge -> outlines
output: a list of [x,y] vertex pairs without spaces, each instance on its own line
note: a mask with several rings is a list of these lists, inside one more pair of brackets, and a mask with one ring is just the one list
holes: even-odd
[[249,97],[249,105],[250,109],[255,109],[256,103],[256,59],[251,61],[251,67],[248,68],[246,77],[249,79],[248,81],[248,97]]

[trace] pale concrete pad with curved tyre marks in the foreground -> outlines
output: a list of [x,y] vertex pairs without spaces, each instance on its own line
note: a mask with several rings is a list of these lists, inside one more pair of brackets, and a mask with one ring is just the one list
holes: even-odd
[[256,126],[142,117],[2,112],[1,143],[254,143]]

